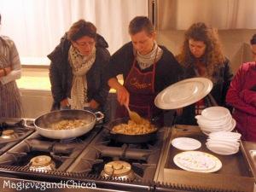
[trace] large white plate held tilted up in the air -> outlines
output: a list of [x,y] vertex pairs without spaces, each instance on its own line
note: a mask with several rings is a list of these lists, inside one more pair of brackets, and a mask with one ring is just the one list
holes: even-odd
[[154,99],[154,104],[162,109],[176,109],[189,106],[212,90],[212,81],[206,78],[184,79],[166,87]]

